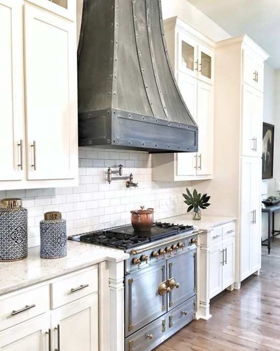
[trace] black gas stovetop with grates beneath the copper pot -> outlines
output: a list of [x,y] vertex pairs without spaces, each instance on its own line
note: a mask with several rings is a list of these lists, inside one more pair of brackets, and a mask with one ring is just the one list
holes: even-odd
[[95,245],[129,249],[178,234],[191,233],[193,230],[193,226],[154,222],[153,227],[149,232],[136,232],[131,225],[128,225],[103,231],[88,232],[79,236],[71,237],[71,239]]

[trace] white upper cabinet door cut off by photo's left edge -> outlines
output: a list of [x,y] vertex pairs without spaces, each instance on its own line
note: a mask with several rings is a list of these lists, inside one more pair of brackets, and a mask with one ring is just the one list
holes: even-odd
[[24,141],[24,105],[22,12],[18,2],[0,0],[0,47],[5,53],[0,65],[0,181],[21,180],[23,171],[18,165],[23,162],[20,141]]

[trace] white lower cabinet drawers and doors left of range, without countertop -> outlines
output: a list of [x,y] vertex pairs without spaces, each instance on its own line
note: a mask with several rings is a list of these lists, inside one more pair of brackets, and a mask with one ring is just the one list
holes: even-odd
[[0,307],[1,351],[99,349],[97,265],[2,295]]

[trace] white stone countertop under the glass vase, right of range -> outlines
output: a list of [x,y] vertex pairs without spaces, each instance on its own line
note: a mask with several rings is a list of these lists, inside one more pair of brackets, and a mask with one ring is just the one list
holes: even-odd
[[181,214],[179,216],[167,217],[159,220],[162,222],[165,221],[174,224],[197,226],[199,230],[209,231],[212,230],[214,227],[221,226],[236,219],[236,217],[230,216],[207,215],[204,214],[203,211],[201,211],[201,219],[199,220],[193,220],[192,213]]

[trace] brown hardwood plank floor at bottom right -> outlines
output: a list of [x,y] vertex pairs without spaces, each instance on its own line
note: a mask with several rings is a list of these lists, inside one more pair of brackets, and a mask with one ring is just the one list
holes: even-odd
[[259,276],[211,300],[208,321],[192,321],[154,351],[280,350],[280,237],[262,246]]

